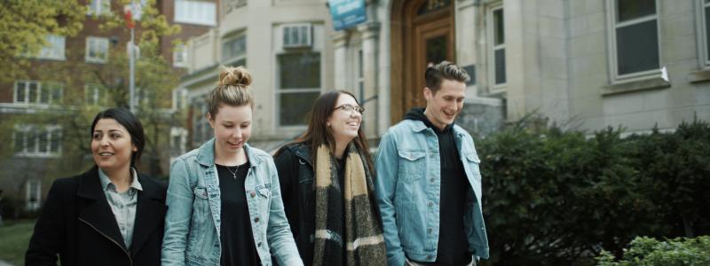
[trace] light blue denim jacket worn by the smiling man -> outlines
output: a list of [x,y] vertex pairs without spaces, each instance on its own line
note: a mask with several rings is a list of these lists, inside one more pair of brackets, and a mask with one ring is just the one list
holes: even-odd
[[[488,258],[481,213],[480,160],[473,138],[454,125],[454,139],[469,180],[463,224],[469,252]],[[422,121],[405,120],[384,134],[375,158],[375,192],[383,217],[388,264],[437,259],[441,164],[438,137]],[[441,224],[446,226],[446,224]]]

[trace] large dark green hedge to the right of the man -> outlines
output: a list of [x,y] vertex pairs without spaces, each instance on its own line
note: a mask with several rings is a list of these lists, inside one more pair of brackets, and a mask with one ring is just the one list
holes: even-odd
[[477,139],[491,247],[485,263],[593,265],[603,249],[622,255],[636,236],[706,234],[708,124],[621,132],[511,127]]

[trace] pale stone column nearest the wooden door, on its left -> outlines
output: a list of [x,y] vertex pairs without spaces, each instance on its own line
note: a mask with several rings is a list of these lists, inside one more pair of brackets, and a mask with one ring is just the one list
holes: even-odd
[[360,103],[367,109],[364,115],[365,134],[367,137],[378,137],[377,135],[377,120],[378,120],[378,69],[377,69],[377,46],[378,36],[380,34],[380,23],[370,21],[358,27],[358,31],[362,35],[362,69],[364,78],[363,96],[366,103]]

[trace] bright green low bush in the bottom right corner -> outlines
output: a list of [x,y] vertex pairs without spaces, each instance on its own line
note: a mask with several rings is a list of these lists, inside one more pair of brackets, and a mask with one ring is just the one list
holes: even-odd
[[710,237],[659,241],[639,237],[631,241],[620,260],[603,251],[597,257],[599,266],[632,265],[710,265]]

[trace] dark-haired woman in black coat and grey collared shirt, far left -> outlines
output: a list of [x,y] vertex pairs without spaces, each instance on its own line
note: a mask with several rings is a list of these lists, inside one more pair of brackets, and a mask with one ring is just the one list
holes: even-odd
[[89,171],[51,185],[25,255],[26,265],[159,265],[165,184],[135,168],[146,137],[124,108],[91,123]]

